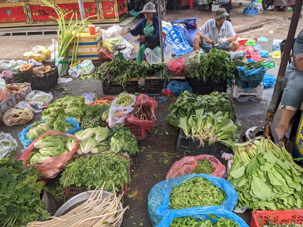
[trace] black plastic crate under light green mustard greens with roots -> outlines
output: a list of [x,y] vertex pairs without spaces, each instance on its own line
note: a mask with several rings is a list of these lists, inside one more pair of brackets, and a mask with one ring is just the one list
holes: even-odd
[[207,142],[205,142],[204,146],[199,145],[200,143],[198,140],[193,141],[191,138],[187,139],[183,130],[180,129],[174,150],[180,152],[190,151],[191,153],[210,154],[215,156],[221,156],[221,153],[232,152],[230,147],[220,142],[215,142],[214,146],[209,146]]

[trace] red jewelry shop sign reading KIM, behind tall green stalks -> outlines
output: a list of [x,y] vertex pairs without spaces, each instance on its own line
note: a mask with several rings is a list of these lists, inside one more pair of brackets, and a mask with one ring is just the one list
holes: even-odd
[[[85,2],[83,3],[83,5],[84,5],[85,17],[94,16],[98,14],[96,12],[95,2]],[[76,3],[58,4],[58,6],[63,10],[64,13],[72,11],[71,13],[66,15],[65,17],[66,19],[70,19],[72,17],[73,12],[77,13],[77,17],[79,19],[81,18],[78,4]],[[30,5],[29,9],[31,11],[33,21],[53,20],[52,18],[49,18],[49,16],[58,18],[58,15],[55,14],[55,10],[48,6]],[[74,18],[76,18],[76,15],[74,15]],[[97,16],[93,18],[97,18]]]

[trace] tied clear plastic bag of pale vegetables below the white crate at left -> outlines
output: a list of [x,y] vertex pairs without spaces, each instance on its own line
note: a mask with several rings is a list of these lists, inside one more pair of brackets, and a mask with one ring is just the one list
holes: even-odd
[[7,110],[2,117],[2,122],[6,126],[13,126],[18,124],[25,124],[32,120],[34,114],[27,107],[24,110],[12,108]]

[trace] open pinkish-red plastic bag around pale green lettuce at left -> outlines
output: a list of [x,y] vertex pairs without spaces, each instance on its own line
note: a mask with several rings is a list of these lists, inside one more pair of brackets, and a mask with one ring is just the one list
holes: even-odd
[[[47,135],[61,135],[61,136],[68,136],[77,141],[75,146],[73,146],[72,150],[70,150],[66,154],[58,155],[52,158],[48,158],[45,160],[42,160],[40,162],[36,163],[30,163],[26,165],[26,162],[28,160],[28,157],[30,156],[33,148],[34,148],[34,143],[37,141],[41,140],[42,137],[47,136]],[[65,134],[61,133],[56,130],[51,130],[48,131],[47,133],[44,133],[43,135],[39,136],[36,140],[34,140],[20,155],[20,157],[17,160],[23,160],[23,165],[26,166],[31,166],[34,165],[36,169],[39,169],[39,171],[42,173],[42,176],[44,177],[49,177],[52,178],[56,176],[58,173],[61,172],[62,169],[65,169],[66,164],[72,160],[74,154],[76,153],[79,145],[79,140],[77,137],[75,137],[72,134]]]

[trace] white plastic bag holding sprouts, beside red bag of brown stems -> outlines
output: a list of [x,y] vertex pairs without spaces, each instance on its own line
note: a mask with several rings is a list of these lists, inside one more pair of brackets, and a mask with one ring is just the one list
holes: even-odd
[[[135,104],[136,96],[133,94],[125,93],[125,92],[123,92],[123,94],[131,96],[134,99],[134,102],[129,104],[127,107],[125,107],[121,104],[116,104],[116,102],[118,101],[118,98],[114,99],[114,101],[111,104],[111,107],[109,108],[109,113],[108,113],[108,118],[109,118],[108,127],[109,128],[113,128],[115,126],[115,124],[117,124],[117,123],[125,123],[126,115],[128,113],[131,113],[134,110],[132,105]],[[117,112],[124,113],[124,116],[120,117],[120,118],[115,117],[113,114],[117,113]]]

